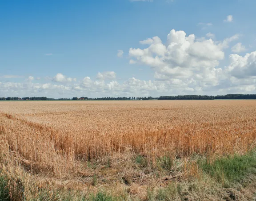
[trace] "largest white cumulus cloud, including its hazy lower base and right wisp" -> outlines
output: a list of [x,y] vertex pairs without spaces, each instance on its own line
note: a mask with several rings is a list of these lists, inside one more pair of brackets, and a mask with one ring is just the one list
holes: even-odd
[[[208,33],[208,36],[212,36]],[[232,41],[239,39],[236,34],[223,41],[186,35],[184,31],[172,30],[167,35],[167,43],[159,37],[140,41],[148,45],[144,49],[130,48],[130,64],[150,66],[155,71],[155,81],[163,83],[166,89],[182,89],[201,93],[232,87],[228,70],[219,67],[224,59],[224,49]],[[243,59],[242,59],[243,60]],[[251,69],[251,68],[250,68]],[[244,70],[244,69],[243,69]],[[245,73],[245,72],[244,72]]]

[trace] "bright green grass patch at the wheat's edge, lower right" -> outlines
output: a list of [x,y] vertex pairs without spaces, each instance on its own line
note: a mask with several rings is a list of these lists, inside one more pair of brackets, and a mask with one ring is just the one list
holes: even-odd
[[218,158],[210,163],[200,163],[204,173],[209,174],[225,186],[242,181],[250,174],[256,174],[256,152]]

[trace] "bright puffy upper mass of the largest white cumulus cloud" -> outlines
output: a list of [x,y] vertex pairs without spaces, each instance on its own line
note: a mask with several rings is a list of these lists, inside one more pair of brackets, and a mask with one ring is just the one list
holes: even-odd
[[215,67],[224,58],[223,46],[212,39],[195,41],[195,35],[186,36],[184,31],[170,31],[167,45],[159,37],[140,43],[149,46],[145,49],[130,48],[129,56],[132,61],[152,66],[156,72],[170,76],[180,72],[179,69],[182,68]]

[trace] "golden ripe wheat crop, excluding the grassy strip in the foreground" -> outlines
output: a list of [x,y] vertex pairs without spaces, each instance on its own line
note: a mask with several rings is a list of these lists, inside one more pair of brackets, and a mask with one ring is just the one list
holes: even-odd
[[[127,161],[128,152],[149,158],[154,167],[166,155],[214,158],[255,145],[253,100],[0,102],[2,161],[9,157],[12,166],[40,178],[92,177],[89,161]],[[118,174],[114,169],[111,174]]]

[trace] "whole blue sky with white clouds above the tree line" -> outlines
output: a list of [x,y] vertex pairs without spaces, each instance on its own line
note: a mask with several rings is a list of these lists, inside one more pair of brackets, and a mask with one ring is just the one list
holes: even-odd
[[0,97],[256,93],[255,0],[0,1]]

